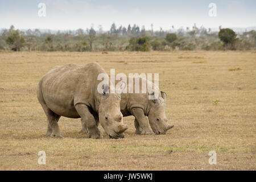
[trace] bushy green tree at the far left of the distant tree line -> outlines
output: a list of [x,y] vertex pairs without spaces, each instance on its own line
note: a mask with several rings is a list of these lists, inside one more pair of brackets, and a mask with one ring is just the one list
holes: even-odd
[[12,35],[10,35],[6,39],[6,43],[9,44],[10,46],[12,46],[11,49],[13,51],[20,51],[20,48],[22,48],[24,46],[25,40],[24,40],[23,36],[19,35],[19,30],[16,30],[13,32]]

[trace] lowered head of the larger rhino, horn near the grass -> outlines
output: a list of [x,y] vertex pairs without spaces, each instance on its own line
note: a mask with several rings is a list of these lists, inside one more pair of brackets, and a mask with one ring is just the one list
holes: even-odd
[[118,92],[108,91],[109,86],[106,85],[98,109],[99,121],[109,138],[123,138],[123,132],[128,129],[128,125],[123,124],[123,115],[120,111],[121,96]]

